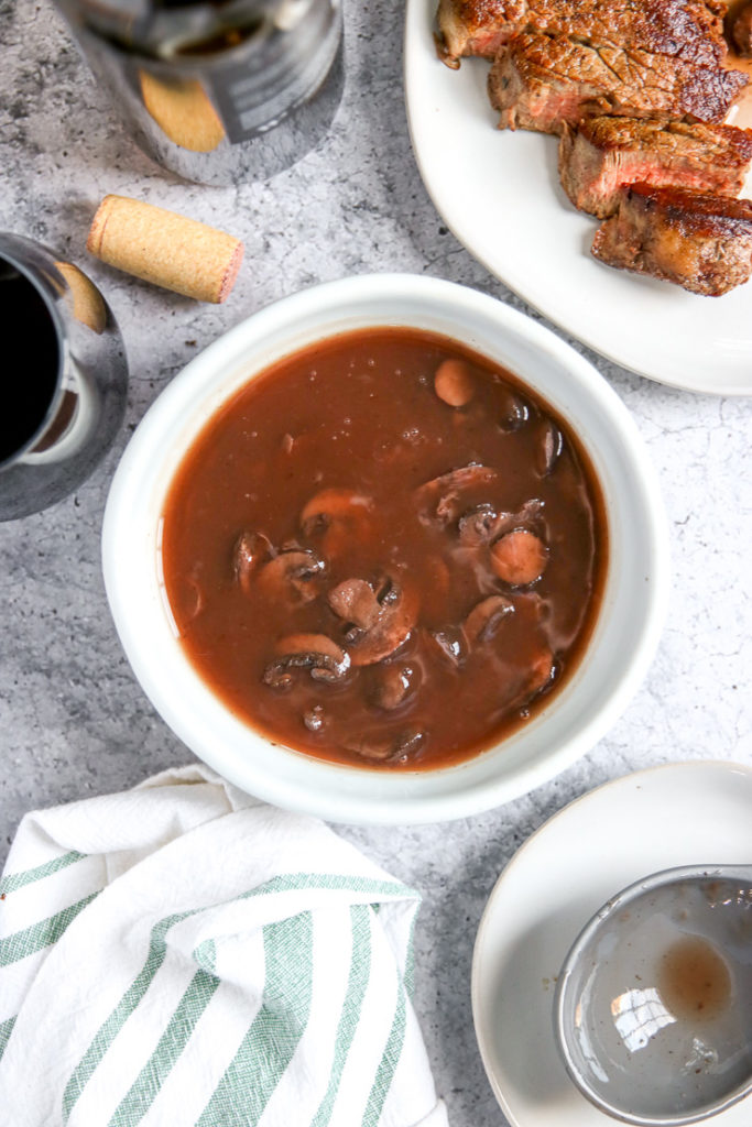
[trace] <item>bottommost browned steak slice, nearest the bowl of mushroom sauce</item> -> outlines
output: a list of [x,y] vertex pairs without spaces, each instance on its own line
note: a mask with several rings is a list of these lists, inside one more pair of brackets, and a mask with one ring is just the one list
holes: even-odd
[[752,273],[752,201],[635,184],[592,249],[608,266],[719,296]]

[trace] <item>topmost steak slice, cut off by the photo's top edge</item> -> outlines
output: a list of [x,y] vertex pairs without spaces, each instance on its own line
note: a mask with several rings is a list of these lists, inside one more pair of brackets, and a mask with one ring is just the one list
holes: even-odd
[[716,0],[440,0],[442,56],[493,59],[523,32],[634,46],[693,64],[720,62],[725,5]]

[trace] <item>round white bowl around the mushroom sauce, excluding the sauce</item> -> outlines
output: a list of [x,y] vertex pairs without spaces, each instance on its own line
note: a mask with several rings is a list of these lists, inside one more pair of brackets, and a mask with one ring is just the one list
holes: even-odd
[[[319,761],[272,744],[233,716],[191,665],[160,569],[161,514],[183,455],[211,415],[272,363],[366,326],[412,326],[504,365],[561,415],[605,499],[609,565],[590,644],[573,676],[523,728],[466,763],[415,772]],[[334,822],[440,822],[524,793],[587,752],[626,708],[657,645],[667,601],[667,533],[637,428],[601,375],[548,329],[493,298],[435,278],[380,274],[315,286],[271,305],[206,348],[133,435],[103,531],[107,597],[151,702],[188,747],[240,787]]]

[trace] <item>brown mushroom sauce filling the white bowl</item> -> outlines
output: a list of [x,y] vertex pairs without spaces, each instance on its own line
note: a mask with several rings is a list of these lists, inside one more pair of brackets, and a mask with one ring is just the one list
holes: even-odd
[[272,742],[361,766],[467,760],[570,677],[604,583],[572,428],[443,337],[374,328],[254,378],[163,513],[185,650]]

